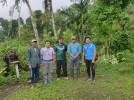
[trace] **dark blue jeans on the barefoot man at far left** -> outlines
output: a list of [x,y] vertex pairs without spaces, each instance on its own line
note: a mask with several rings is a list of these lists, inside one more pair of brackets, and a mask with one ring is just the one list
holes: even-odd
[[35,83],[38,83],[38,80],[39,80],[39,69],[40,69],[40,66],[37,66],[37,67],[32,68],[30,70],[30,76],[31,76],[31,83],[32,83],[32,85],[34,85],[34,75],[35,75]]

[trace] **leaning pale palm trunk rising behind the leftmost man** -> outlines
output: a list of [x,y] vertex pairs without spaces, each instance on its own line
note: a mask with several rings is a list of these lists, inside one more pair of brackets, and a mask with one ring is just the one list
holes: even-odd
[[38,34],[37,26],[36,26],[36,23],[35,23],[35,20],[34,20],[34,17],[33,17],[32,9],[31,9],[31,7],[29,5],[29,1],[25,0],[25,2],[26,2],[27,7],[29,9],[29,13],[30,13],[30,17],[31,17],[31,21],[32,21],[33,29],[34,29],[35,38],[36,38],[37,43],[38,43],[38,47],[41,49],[39,34]]

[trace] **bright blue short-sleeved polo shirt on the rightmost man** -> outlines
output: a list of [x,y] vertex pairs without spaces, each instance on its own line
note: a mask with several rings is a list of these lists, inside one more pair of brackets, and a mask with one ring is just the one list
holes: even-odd
[[85,51],[85,59],[86,60],[93,60],[94,58],[94,50],[96,50],[96,47],[94,44],[90,43],[89,45],[85,44],[83,46],[83,51]]

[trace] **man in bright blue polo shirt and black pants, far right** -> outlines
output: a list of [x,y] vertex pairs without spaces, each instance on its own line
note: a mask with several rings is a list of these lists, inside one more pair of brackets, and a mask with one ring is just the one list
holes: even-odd
[[94,44],[90,43],[90,37],[86,37],[86,43],[83,46],[83,57],[82,57],[82,63],[84,63],[84,57],[85,57],[85,63],[87,67],[87,81],[90,80],[90,66],[92,69],[92,82],[95,82],[95,67],[94,67],[94,62],[95,62],[95,57],[96,57],[96,47]]

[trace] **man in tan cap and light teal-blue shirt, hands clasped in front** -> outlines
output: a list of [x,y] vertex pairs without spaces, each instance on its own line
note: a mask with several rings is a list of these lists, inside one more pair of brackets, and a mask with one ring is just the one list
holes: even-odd
[[81,53],[81,46],[79,43],[76,42],[76,37],[71,37],[72,43],[68,45],[68,54],[70,58],[70,71],[71,71],[71,77],[72,80],[74,80],[74,64],[76,65],[76,71],[77,71],[77,79],[79,79],[80,74],[80,53]]

